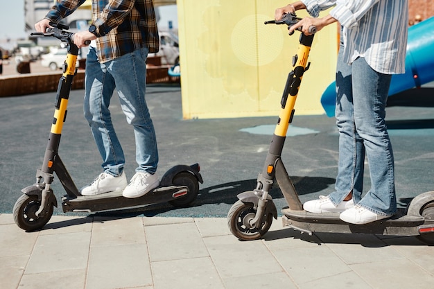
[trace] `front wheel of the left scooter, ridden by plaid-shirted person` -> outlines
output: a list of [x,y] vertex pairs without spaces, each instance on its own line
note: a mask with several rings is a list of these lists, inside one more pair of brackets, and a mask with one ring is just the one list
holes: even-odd
[[21,229],[26,231],[37,231],[42,229],[49,222],[53,215],[53,204],[49,204],[42,217],[36,216],[36,212],[40,209],[41,202],[37,200],[37,195],[21,195],[15,202],[12,211],[15,223]]

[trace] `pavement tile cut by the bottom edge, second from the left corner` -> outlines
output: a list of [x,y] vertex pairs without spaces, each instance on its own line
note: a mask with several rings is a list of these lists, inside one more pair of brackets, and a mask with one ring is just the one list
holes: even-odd
[[19,283],[19,288],[80,289],[85,288],[85,278],[85,269],[24,274],[23,279]]

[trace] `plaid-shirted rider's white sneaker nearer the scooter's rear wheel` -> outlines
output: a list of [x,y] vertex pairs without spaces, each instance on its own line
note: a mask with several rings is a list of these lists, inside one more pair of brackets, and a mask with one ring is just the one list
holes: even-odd
[[159,186],[157,174],[135,173],[130,184],[123,190],[125,198],[139,198]]

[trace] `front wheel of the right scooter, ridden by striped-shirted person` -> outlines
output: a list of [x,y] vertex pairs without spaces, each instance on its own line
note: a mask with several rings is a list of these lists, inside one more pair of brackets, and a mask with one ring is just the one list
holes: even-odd
[[252,203],[244,203],[238,200],[227,213],[227,226],[231,233],[240,240],[257,240],[261,238],[271,227],[272,214],[267,215],[266,222],[263,223],[261,228],[254,228],[250,225],[250,220],[253,220],[256,213]]

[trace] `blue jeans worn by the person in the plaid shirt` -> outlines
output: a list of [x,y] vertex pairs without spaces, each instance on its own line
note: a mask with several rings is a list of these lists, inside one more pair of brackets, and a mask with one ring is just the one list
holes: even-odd
[[157,139],[146,105],[146,58],[148,49],[138,49],[101,64],[96,51],[89,48],[86,59],[85,118],[103,158],[105,173],[122,173],[125,157],[112,124],[110,100],[114,89],[119,94],[127,122],[134,128],[136,171],[155,173],[158,163]]

